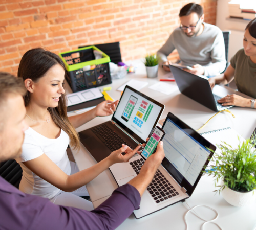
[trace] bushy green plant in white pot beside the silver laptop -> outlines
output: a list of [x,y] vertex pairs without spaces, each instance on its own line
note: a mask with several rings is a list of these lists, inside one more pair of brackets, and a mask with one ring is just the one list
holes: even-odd
[[223,142],[217,147],[220,154],[213,157],[214,165],[205,174],[215,177],[215,186],[224,199],[234,206],[246,206],[256,199],[256,150],[253,147],[255,136],[240,142],[237,148],[232,148]]

